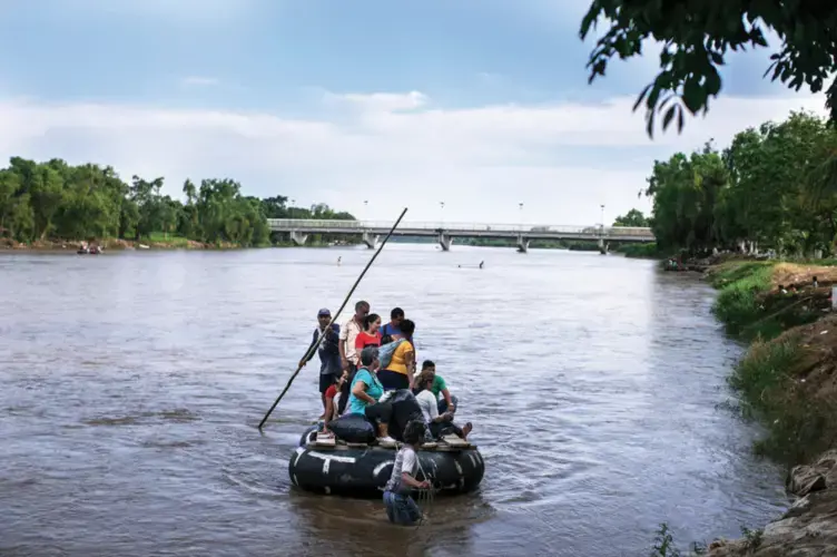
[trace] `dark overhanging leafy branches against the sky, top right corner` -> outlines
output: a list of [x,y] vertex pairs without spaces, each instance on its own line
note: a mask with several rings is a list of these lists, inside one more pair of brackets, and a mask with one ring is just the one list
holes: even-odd
[[[799,90],[807,85],[820,91],[837,70],[837,4],[830,2],[782,2],[760,0],[593,0],[581,22],[583,39],[600,19],[610,28],[590,53],[589,80],[604,76],[609,61],[642,55],[642,43],[662,43],[660,72],[639,95],[643,101],[649,136],[656,117],[662,115],[663,130],[677,118],[682,130],[685,113],[706,114],[709,99],[721,90],[718,68],[730,51],[767,47],[765,30],[775,31],[781,47],[770,59],[765,75]],[[837,120],[837,80],[826,90],[831,120]]]

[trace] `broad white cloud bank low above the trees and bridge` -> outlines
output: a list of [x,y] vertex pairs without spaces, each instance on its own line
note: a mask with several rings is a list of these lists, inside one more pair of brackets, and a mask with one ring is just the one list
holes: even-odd
[[[790,94],[788,94],[790,95]],[[651,141],[633,97],[602,105],[434,107],[408,94],[334,95],[323,119],[279,114],[160,107],[0,101],[0,156],[112,165],[166,176],[170,193],[186,177],[240,179],[254,195],[325,202],[388,219],[509,222],[524,203],[529,223],[590,224],[631,207],[654,158],[698,148],[789,110],[824,113],[823,96],[721,98],[682,135]],[[363,201],[370,201],[364,215]]]

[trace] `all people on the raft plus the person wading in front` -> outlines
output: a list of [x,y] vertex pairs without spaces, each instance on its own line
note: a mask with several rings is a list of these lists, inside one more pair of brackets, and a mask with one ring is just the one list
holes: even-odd
[[[383,499],[390,521],[408,526],[423,518],[411,491],[432,488],[426,477],[422,481],[416,478],[416,450],[447,433],[466,439],[472,426],[459,428],[453,423],[459,400],[436,374],[435,363],[425,360],[416,373],[415,323],[405,319],[404,310],[395,307],[390,312],[388,323],[382,325],[381,321],[365,301],[355,304],[354,315],[342,328],[332,323],[327,309],[319,310],[312,345],[299,367],[314,358],[313,349],[319,342],[323,427],[317,437],[332,437],[328,426],[338,417],[361,414],[375,424],[378,443],[394,446],[396,440],[391,437],[390,426],[398,424],[402,431],[392,433],[403,444],[384,486]],[[417,407],[407,412],[405,423],[393,419],[391,398],[401,398],[400,408],[405,402]]]

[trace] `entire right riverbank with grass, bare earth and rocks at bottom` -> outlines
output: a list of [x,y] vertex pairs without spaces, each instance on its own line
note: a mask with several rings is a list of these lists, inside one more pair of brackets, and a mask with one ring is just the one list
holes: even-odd
[[720,290],[716,316],[729,334],[751,342],[728,379],[735,408],[764,426],[754,449],[788,467],[787,489],[797,497],[778,520],[739,540],[716,540],[708,555],[835,555],[837,267],[728,261],[706,277]]

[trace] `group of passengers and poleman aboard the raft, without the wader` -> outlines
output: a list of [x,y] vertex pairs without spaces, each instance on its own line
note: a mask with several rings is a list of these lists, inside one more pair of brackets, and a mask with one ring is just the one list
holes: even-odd
[[[404,310],[393,309],[390,322],[382,324],[381,316],[371,313],[368,302],[361,301],[343,326],[332,323],[328,328],[331,321],[331,312],[319,310],[307,359],[299,362],[303,367],[314,358],[311,349],[324,335],[318,348],[323,428],[317,437],[332,437],[328,424],[341,416],[363,414],[376,424],[381,444],[394,444],[388,430],[393,410],[387,400],[394,391],[408,389],[421,408],[426,440],[447,433],[467,438],[472,426],[453,423],[459,400],[436,374],[435,363],[425,360],[416,373],[415,323],[405,317]],[[396,436],[403,438],[403,433]]]

